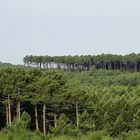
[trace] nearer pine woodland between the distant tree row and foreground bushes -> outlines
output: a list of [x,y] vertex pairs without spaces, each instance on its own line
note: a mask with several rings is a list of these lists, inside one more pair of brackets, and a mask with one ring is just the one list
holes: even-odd
[[118,136],[140,129],[140,74],[0,70],[1,128],[26,111],[31,130],[78,135],[103,130]]

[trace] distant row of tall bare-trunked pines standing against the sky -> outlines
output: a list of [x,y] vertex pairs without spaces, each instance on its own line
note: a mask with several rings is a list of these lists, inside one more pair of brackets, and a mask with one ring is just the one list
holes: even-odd
[[140,54],[129,55],[75,55],[75,56],[33,56],[23,59],[26,66],[44,69],[56,68],[67,71],[90,71],[93,69],[140,71]]

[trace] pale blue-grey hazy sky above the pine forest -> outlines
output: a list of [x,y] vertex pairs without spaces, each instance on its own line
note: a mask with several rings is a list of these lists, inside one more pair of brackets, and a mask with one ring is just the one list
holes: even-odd
[[0,0],[0,61],[140,53],[139,0]]

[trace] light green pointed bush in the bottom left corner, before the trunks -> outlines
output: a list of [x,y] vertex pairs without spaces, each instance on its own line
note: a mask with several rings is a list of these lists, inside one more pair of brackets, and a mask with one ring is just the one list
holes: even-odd
[[43,140],[43,137],[28,131],[30,126],[30,115],[23,112],[21,120],[15,119],[7,131],[0,134],[0,140]]

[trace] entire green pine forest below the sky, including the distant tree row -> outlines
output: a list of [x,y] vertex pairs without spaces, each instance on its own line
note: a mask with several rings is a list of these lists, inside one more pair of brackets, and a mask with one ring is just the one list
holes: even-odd
[[0,139],[139,140],[139,62],[139,54],[25,56],[30,67],[1,68]]

